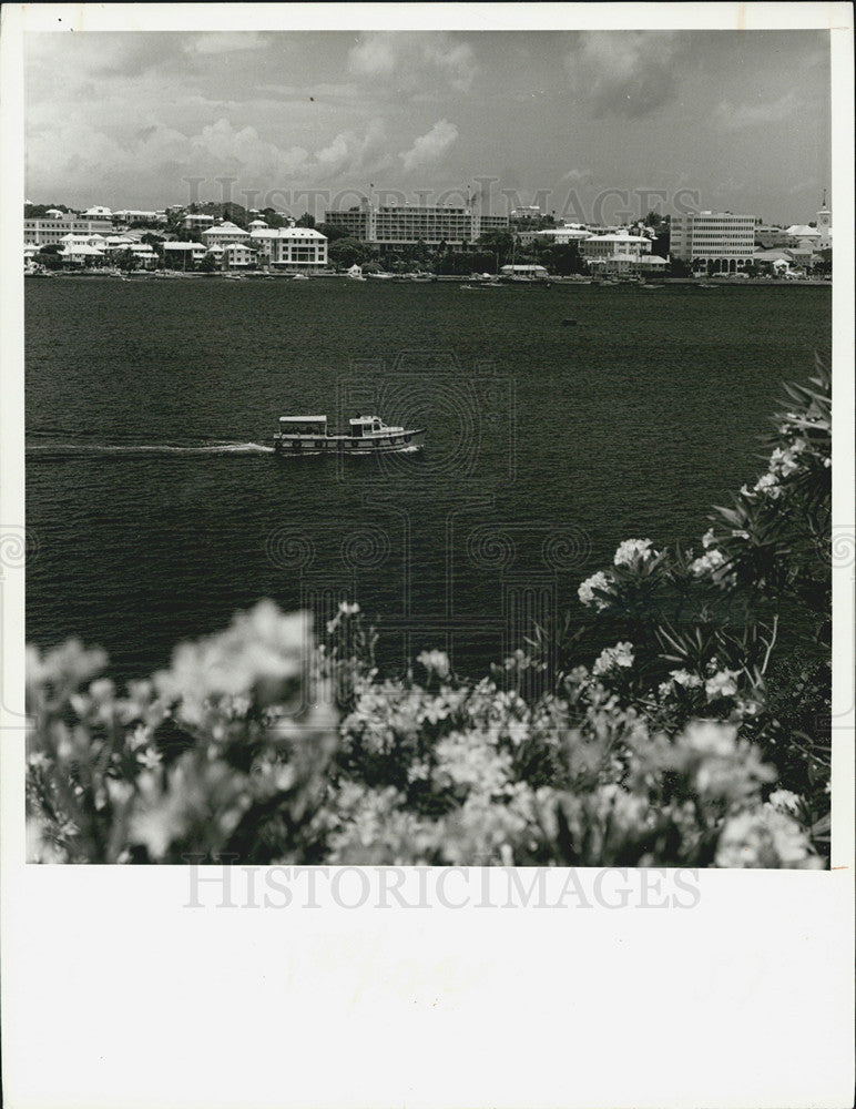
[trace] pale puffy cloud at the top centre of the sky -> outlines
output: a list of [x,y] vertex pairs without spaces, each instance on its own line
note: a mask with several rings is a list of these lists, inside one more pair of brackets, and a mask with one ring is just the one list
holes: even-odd
[[348,52],[348,69],[367,80],[393,81],[407,92],[436,88],[438,81],[456,92],[469,92],[478,71],[472,47],[444,31],[361,34]]

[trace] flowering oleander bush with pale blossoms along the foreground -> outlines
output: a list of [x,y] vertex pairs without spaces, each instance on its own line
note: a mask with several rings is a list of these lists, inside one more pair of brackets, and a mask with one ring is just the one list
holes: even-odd
[[31,648],[30,858],[827,865],[824,367],[789,399],[697,551],[630,539],[581,583],[538,699],[537,641],[477,682],[439,651],[384,676],[355,604],[263,601],[121,691],[101,651]]

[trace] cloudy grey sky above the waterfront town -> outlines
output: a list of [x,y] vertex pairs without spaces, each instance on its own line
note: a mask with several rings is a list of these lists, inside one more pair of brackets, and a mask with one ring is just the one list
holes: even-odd
[[320,218],[371,191],[787,225],[829,185],[822,31],[40,32],[24,64],[37,204]]

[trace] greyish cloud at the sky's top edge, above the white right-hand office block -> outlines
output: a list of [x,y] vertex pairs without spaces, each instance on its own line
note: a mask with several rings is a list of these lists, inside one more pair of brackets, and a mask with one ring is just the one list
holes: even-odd
[[674,31],[585,32],[565,68],[595,119],[638,120],[673,99],[683,42]]

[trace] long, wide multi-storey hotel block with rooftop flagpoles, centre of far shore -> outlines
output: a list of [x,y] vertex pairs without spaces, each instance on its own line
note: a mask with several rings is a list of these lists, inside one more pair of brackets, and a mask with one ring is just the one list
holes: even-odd
[[325,223],[340,227],[350,237],[373,246],[395,248],[445,243],[451,250],[475,242],[490,231],[507,231],[508,217],[489,215],[472,207],[428,204],[388,204],[375,207],[368,201],[346,212],[326,212]]

